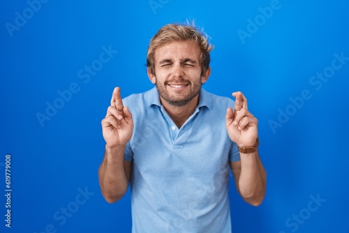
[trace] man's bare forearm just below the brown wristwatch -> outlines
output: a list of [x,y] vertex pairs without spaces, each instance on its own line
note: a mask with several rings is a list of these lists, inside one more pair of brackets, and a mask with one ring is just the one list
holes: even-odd
[[246,202],[258,206],[265,197],[267,174],[258,156],[258,151],[240,153],[240,159],[239,192]]

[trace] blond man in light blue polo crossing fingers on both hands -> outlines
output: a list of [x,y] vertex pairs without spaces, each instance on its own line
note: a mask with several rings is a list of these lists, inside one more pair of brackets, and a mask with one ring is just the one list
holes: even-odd
[[131,182],[133,232],[231,232],[229,167],[246,202],[265,196],[258,121],[245,96],[232,93],[234,103],[201,88],[212,49],[194,26],[168,24],[147,52],[156,87],[124,99],[114,89],[98,175],[110,203]]

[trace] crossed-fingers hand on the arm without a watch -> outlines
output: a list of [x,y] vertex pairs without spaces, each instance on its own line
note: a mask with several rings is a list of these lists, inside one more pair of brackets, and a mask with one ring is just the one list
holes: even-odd
[[112,93],[112,100],[107,114],[102,120],[103,137],[107,146],[126,146],[133,133],[132,114],[128,107],[124,107],[120,88],[116,87]]

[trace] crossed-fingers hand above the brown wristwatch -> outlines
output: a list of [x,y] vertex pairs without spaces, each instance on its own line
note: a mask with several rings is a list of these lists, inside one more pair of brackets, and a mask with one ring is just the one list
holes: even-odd
[[247,99],[240,92],[233,92],[235,97],[234,111],[228,107],[225,115],[226,128],[230,140],[239,146],[253,146],[258,137],[258,120],[248,112]]

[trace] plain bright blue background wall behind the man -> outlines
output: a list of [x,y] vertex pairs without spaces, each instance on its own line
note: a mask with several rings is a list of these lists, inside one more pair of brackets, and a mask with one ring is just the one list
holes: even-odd
[[[0,195],[1,232],[131,232],[130,194],[107,204],[98,186],[101,120],[114,87],[123,96],[153,87],[144,66],[149,40],[164,24],[186,19],[216,46],[205,89],[243,91],[259,120],[267,195],[258,208],[248,206],[230,181],[233,231],[349,232],[348,59],[336,61],[341,68],[326,82],[313,83],[316,73],[331,71],[334,54],[349,57],[349,1],[280,0],[268,18],[260,8],[269,0],[154,0],[153,7],[147,0],[64,0],[28,10],[30,2],[0,8],[0,193],[8,153],[13,188],[10,229]],[[18,15],[27,22],[17,19],[22,26],[8,30]],[[242,40],[238,31],[248,32],[248,20],[259,26]],[[117,52],[81,78],[85,66],[97,67],[103,47]],[[59,102],[57,91],[72,84],[75,93]],[[311,98],[301,101],[304,90]],[[59,109],[40,124],[47,103]],[[282,119],[286,111],[291,116]],[[316,211],[309,211],[309,203],[317,206],[312,197],[321,199]]]

